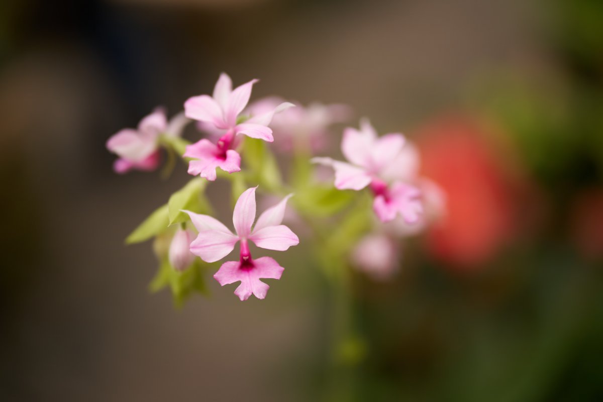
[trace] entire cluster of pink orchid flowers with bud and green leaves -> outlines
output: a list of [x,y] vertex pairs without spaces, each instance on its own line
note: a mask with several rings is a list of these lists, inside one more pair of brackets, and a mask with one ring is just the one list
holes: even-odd
[[[222,263],[213,278],[222,286],[240,282],[235,290],[240,300],[247,300],[251,295],[265,298],[269,286],[262,280],[280,279],[284,268],[272,257],[254,259],[250,245],[286,251],[299,243],[291,228],[282,224],[292,192],[300,194],[299,199],[295,197],[292,202],[298,218],[295,225],[302,231],[308,230],[302,222],[314,222],[320,210],[331,214],[349,207],[351,198],[325,193],[329,190],[315,183],[312,175],[304,173],[311,167],[310,162],[335,169],[336,189],[368,187],[373,195],[374,213],[380,222],[390,222],[388,226],[373,225],[373,231],[364,239],[345,233],[350,237],[343,242],[343,248],[329,242],[319,245],[333,256],[344,250],[352,256],[355,265],[370,267],[369,271],[382,271],[382,274],[388,271],[386,265],[391,265],[399,256],[394,237],[421,231],[430,221],[430,213],[441,209],[437,186],[418,177],[417,149],[402,134],[379,137],[370,123],[362,120],[359,130],[344,130],[341,151],[348,162],[329,157],[315,157],[310,161],[309,154],[326,150],[324,145],[328,143],[330,127],[345,121],[350,109],[336,104],[293,107],[292,103],[275,97],[248,105],[256,82],[251,80],[233,89],[230,77],[221,74],[211,96],[189,98],[183,113],[171,121],[168,122],[162,108],[157,108],[142,119],[137,130],[121,130],[107,142],[109,151],[119,157],[114,166],[118,173],[156,169],[163,148],[168,154],[182,155],[188,163],[188,173],[195,176],[127,239],[129,243],[156,239],[154,250],[160,271],[151,289],[169,285],[174,294],[182,298],[191,289],[203,292],[204,267],[224,259],[239,243],[238,260]],[[186,124],[191,121],[196,121],[197,128],[207,134],[194,143],[182,137]],[[280,142],[278,149],[293,155],[289,159],[295,161],[294,166],[287,170],[295,177],[291,184],[283,183],[279,164],[265,145],[274,142],[275,137]],[[245,157],[243,168],[241,155]],[[232,183],[233,196],[238,195],[233,210],[234,231],[212,216],[205,195],[207,184],[218,178],[218,168],[235,174],[224,175]],[[256,189],[261,183],[270,184],[259,188],[273,196],[289,194],[265,210],[256,221]],[[339,192],[335,190],[335,193]],[[324,199],[327,199],[326,205]],[[352,219],[348,218],[353,216],[353,208],[350,208],[342,215],[342,227],[346,219]],[[369,212],[370,215],[370,208],[357,208],[356,213]],[[315,224],[311,226],[316,230]],[[392,227],[405,234],[394,235],[396,230]],[[318,230],[324,234],[327,228]]]

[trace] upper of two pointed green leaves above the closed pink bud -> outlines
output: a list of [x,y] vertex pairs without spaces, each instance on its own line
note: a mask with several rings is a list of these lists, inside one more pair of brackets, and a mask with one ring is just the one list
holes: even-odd
[[209,203],[203,193],[206,186],[207,180],[196,177],[169,197],[168,217],[170,225],[188,221],[188,215],[181,211],[183,209],[192,212],[209,212]]

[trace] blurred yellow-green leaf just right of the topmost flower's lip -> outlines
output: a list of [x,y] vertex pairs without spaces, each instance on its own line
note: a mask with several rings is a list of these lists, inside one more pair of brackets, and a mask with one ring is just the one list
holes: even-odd
[[243,148],[247,177],[251,183],[257,183],[270,191],[280,191],[282,178],[274,155],[264,140],[246,138]]

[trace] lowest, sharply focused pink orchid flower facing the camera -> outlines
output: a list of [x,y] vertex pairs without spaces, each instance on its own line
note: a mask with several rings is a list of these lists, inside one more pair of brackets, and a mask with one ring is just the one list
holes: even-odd
[[287,200],[291,195],[283,198],[276,206],[265,210],[253,226],[256,217],[256,188],[245,190],[236,201],[232,217],[236,234],[209,215],[185,211],[199,231],[197,239],[191,243],[191,252],[202,260],[206,262],[221,260],[234,250],[237,242],[241,242],[239,261],[224,263],[213,275],[222,286],[241,281],[235,290],[235,295],[241,300],[247,300],[251,294],[259,299],[265,298],[270,286],[260,279],[280,279],[284,269],[270,257],[252,259],[248,243],[250,240],[257,247],[278,251],[285,251],[299,243],[295,233],[281,224]]

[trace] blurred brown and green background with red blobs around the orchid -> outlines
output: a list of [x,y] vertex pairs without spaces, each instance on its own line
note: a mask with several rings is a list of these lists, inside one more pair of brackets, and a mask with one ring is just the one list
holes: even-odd
[[[222,71],[402,131],[448,194],[393,280],[355,274],[344,363],[303,244],[266,300],[182,310],[124,246],[188,177],[106,139]],[[603,400],[600,1],[5,0],[0,121],[1,400]]]

